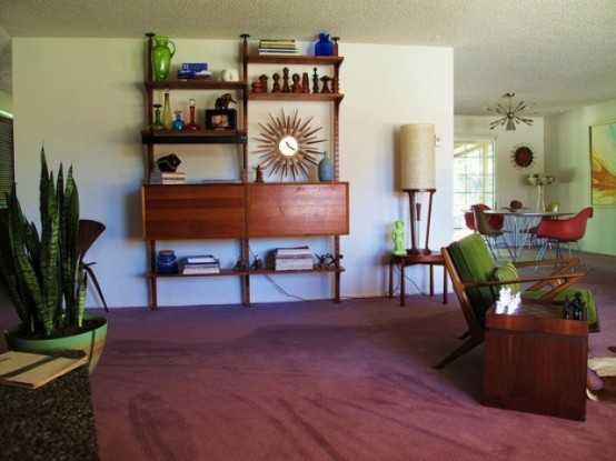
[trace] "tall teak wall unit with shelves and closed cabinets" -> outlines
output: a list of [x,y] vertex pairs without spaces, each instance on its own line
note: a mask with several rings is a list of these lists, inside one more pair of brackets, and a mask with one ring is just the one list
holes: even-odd
[[[148,124],[153,121],[153,96],[156,91],[207,90],[236,91],[240,117],[236,130],[143,130],[142,143],[146,146],[148,173],[155,171],[157,144],[237,144],[241,157],[239,183],[186,183],[149,184],[141,188],[142,235],[149,252],[150,308],[158,309],[158,281],[169,278],[196,277],[239,277],[241,279],[241,300],[250,304],[250,277],[267,273],[321,273],[332,277],[332,300],[340,301],[339,235],[349,233],[349,184],[339,181],[339,106],[344,98],[340,93],[252,93],[248,87],[248,70],[251,63],[302,66],[310,70],[314,66],[328,66],[338,82],[339,69],[344,58],[314,56],[260,56],[249,52],[247,34],[242,36],[242,74],[240,81],[223,82],[213,80],[168,80],[152,81],[151,47],[152,37],[148,34],[147,48],[147,96]],[[336,43],[335,53],[338,53]],[[260,182],[250,183],[247,149],[248,103],[249,100],[265,101],[316,101],[329,103],[332,108],[330,152],[334,161],[332,182]],[[331,237],[331,253],[337,262],[328,269],[312,271],[274,271],[271,268],[249,269],[250,239],[287,237]],[[160,274],[156,272],[157,241],[168,240],[208,240],[232,239],[240,247],[245,267],[221,268],[217,274],[183,275]],[[282,244],[284,245],[284,244]]]

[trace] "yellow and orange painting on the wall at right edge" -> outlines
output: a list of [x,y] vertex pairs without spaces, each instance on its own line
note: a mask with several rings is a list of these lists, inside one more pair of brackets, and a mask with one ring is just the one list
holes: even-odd
[[616,206],[616,120],[590,126],[590,202]]

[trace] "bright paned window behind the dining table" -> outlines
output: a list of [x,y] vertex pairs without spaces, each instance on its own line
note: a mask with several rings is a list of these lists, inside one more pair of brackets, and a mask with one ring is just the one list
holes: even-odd
[[471,204],[496,204],[494,138],[454,141],[454,230],[465,229],[464,211]]

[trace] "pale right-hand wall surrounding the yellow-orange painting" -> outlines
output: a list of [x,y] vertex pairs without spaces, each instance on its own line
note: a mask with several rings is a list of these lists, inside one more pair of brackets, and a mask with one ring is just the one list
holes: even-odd
[[[616,100],[560,113],[545,121],[546,169],[556,182],[546,191],[548,200],[558,200],[566,210],[590,206],[589,127],[616,120]],[[585,251],[616,254],[616,207],[594,206],[580,244]]]

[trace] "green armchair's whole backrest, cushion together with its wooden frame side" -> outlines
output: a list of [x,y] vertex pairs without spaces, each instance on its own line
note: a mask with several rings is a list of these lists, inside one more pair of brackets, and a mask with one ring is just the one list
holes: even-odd
[[495,292],[489,287],[466,288],[464,283],[486,282],[494,278],[496,264],[485,240],[478,233],[467,235],[444,248],[443,255],[467,323],[483,324],[486,311],[496,302]]

